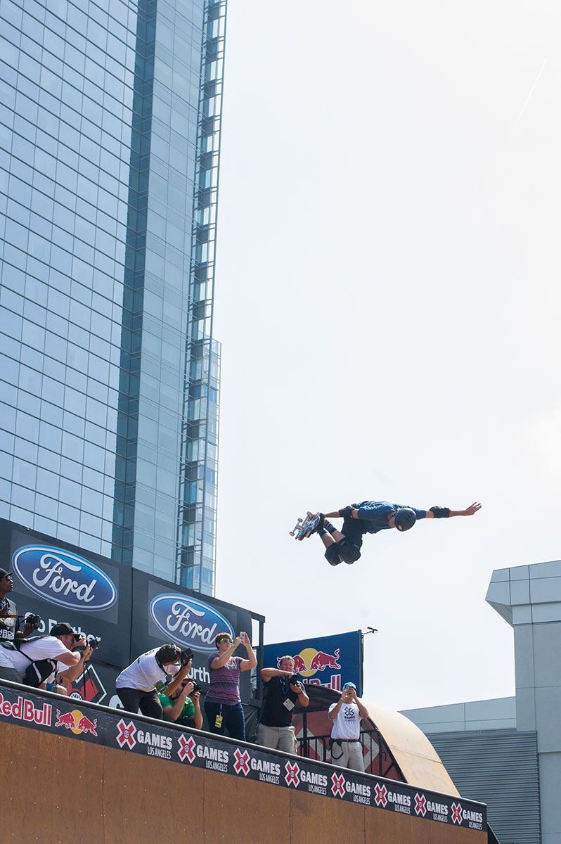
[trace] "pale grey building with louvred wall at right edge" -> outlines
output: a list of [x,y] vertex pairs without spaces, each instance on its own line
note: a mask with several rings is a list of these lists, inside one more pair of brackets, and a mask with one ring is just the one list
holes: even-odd
[[403,714],[500,844],[561,844],[561,561],[494,571],[487,601],[514,630],[515,697]]

